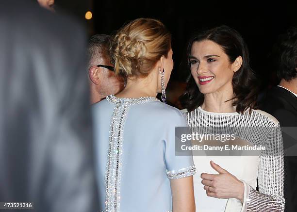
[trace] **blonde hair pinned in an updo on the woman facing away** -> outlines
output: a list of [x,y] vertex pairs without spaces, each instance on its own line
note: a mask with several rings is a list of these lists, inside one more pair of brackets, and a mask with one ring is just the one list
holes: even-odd
[[156,19],[138,18],[122,27],[112,38],[115,74],[124,79],[146,77],[171,48],[171,34]]

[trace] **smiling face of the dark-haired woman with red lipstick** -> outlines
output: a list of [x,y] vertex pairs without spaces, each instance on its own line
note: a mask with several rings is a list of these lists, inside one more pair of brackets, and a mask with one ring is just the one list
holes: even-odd
[[191,74],[202,94],[230,92],[233,65],[228,55],[210,40],[195,41],[190,55]]

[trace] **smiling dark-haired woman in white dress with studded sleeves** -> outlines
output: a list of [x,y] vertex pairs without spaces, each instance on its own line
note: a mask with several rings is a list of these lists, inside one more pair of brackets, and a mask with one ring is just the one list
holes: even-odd
[[280,125],[256,110],[256,78],[243,38],[227,26],[198,33],[188,45],[188,65],[191,74],[181,102],[192,130],[240,127],[240,139],[265,147],[258,156],[194,156],[196,211],[282,212]]

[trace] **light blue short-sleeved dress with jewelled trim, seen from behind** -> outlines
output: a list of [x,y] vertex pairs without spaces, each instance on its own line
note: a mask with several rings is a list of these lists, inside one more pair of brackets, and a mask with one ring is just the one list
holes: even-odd
[[170,180],[195,174],[191,155],[175,156],[181,112],[157,98],[116,98],[93,106],[102,212],[168,212]]

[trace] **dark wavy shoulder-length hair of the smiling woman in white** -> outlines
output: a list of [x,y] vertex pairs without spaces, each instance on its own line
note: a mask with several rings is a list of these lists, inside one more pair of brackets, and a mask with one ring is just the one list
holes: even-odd
[[228,26],[219,26],[213,29],[194,33],[187,46],[186,60],[187,69],[190,73],[187,79],[187,88],[181,95],[181,105],[189,112],[198,108],[204,100],[204,94],[200,93],[198,86],[190,71],[190,54],[192,45],[196,41],[210,40],[221,46],[228,55],[230,63],[233,63],[238,56],[241,56],[243,63],[238,71],[233,75],[232,87],[234,97],[232,105],[236,106],[237,113],[244,113],[248,108],[257,109],[258,82],[257,78],[249,66],[248,49],[242,36]]

